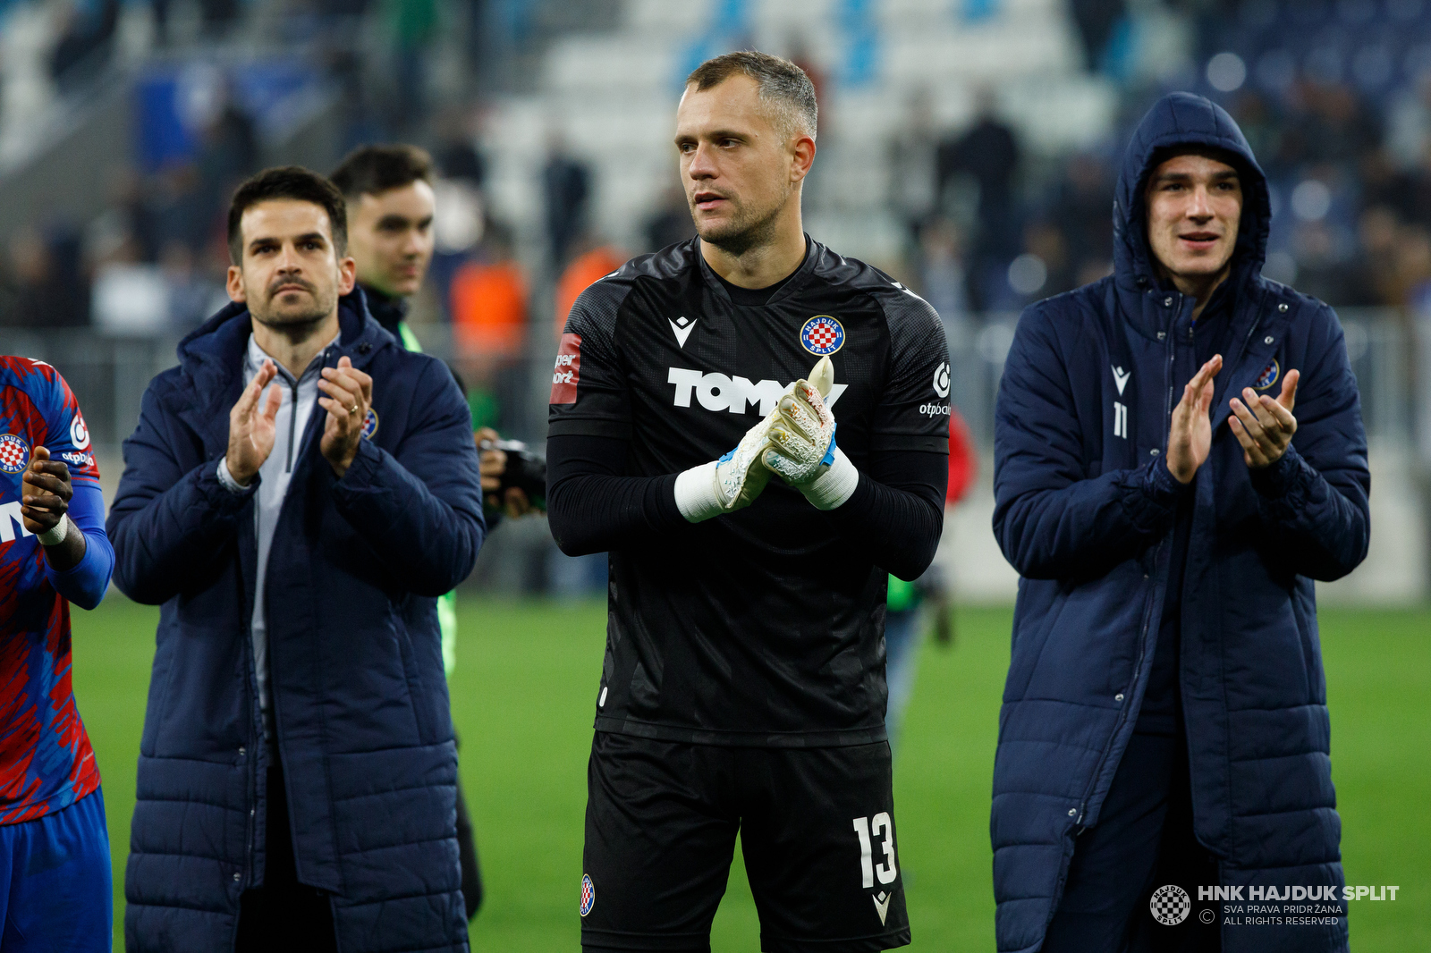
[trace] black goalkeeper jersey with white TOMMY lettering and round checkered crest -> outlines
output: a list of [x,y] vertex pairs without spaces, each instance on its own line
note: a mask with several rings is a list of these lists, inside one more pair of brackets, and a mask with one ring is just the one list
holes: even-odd
[[[860,469],[949,452],[939,315],[807,239],[764,305],[733,305],[698,239],[633,259],[577,299],[551,389],[552,438],[627,441],[627,474],[713,461],[823,355],[836,442]],[[670,489],[665,489],[670,494]],[[743,746],[884,740],[887,575],[771,478],[756,502],[611,551],[598,731]]]

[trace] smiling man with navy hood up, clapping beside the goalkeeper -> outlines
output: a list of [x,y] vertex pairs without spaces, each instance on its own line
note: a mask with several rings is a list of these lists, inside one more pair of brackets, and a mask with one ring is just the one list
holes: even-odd
[[1298,884],[1335,909],[1342,886],[1312,580],[1365,557],[1371,481],[1337,316],[1261,276],[1269,220],[1232,119],[1173,93],[1128,147],[1113,275],[1019,322],[999,950],[1347,949],[1335,910],[1236,926],[1198,903]]

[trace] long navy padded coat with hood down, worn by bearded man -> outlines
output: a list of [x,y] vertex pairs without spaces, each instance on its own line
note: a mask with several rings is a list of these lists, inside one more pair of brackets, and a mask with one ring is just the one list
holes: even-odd
[[[467,950],[456,753],[436,600],[485,532],[467,404],[438,361],[341,303],[376,429],[338,479],[303,434],[268,568],[269,685],[298,876],[332,894],[345,953]],[[219,312],[145,394],[109,515],[114,584],[162,605],[124,876],[132,953],[232,949],[263,879],[265,784],[249,622],[253,491],[216,476],[250,319]],[[255,484],[256,485],[256,484]]]

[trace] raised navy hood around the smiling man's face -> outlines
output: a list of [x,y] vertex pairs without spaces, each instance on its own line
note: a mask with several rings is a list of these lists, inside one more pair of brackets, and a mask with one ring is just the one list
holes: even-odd
[[1216,103],[1192,93],[1169,93],[1158,100],[1133,132],[1113,197],[1113,276],[1120,290],[1139,293],[1156,286],[1148,246],[1143,186],[1152,169],[1179,146],[1211,146],[1231,153],[1242,180],[1242,222],[1232,252],[1229,285],[1241,286],[1262,272],[1272,203],[1266,175],[1236,122]]

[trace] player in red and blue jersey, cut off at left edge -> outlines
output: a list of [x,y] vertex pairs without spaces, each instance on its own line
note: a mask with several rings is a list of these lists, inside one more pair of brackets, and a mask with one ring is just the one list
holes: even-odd
[[0,356],[0,950],[109,950],[104,797],[70,688],[70,602],[114,570],[79,402]]

